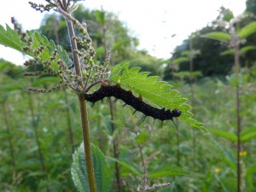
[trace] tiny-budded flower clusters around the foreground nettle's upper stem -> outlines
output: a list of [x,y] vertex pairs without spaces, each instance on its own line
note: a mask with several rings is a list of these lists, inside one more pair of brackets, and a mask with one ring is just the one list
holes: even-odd
[[[40,12],[49,11],[49,9],[55,9],[55,11],[61,13],[65,16],[65,19],[72,23],[73,26],[79,29],[79,34],[73,34],[73,39],[71,39],[71,44],[79,44],[80,49],[73,49],[73,66],[68,67],[65,61],[60,60],[58,57],[58,50],[52,51],[51,56],[48,60],[43,60],[40,55],[44,52],[44,45],[39,46],[37,49],[32,46],[33,38],[29,36],[26,32],[22,32],[20,25],[17,21],[12,18],[12,23],[14,24],[15,31],[18,32],[20,40],[26,44],[22,49],[28,55],[33,55],[33,59],[30,59],[24,63],[28,69],[32,69],[32,72],[24,73],[24,76],[40,76],[43,74],[57,76],[61,80],[54,87],[49,89],[38,89],[34,87],[29,87],[28,90],[49,93],[53,90],[59,90],[61,88],[71,88],[76,93],[82,93],[86,91],[88,84],[97,84],[106,79],[108,76],[108,64],[110,52],[106,54],[106,59],[102,65],[96,65],[95,63],[95,49],[92,46],[92,40],[87,32],[86,24],[81,24],[79,20],[73,18],[70,13],[76,9],[74,4],[70,5],[70,1],[47,1],[49,4],[42,5],[37,3],[30,3],[33,9]],[[76,55],[76,56],[74,56]],[[75,58],[79,58],[79,61],[75,61]],[[53,67],[53,63],[58,59],[57,67]],[[76,65],[74,65],[76,62]],[[41,68],[38,66],[41,66]],[[42,68],[43,67],[43,68]],[[35,70],[35,69],[36,70]]]

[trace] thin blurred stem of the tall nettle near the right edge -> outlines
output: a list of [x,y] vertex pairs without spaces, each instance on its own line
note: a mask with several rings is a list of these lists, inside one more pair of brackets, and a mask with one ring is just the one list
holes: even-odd
[[241,116],[240,116],[240,84],[239,84],[239,46],[236,45],[235,49],[235,70],[236,70],[236,128],[237,128],[237,192],[241,191]]

